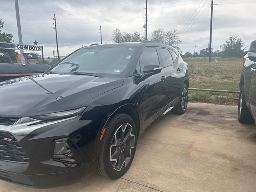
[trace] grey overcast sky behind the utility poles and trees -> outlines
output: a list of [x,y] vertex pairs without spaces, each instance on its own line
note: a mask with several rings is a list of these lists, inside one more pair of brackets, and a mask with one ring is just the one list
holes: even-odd
[[[230,35],[239,36],[249,47],[256,39],[256,0],[214,0],[214,4],[212,48],[219,50]],[[23,44],[36,40],[44,46],[45,56],[52,57],[52,50],[56,51],[53,12],[60,56],[82,45],[99,43],[100,24],[104,43],[111,43],[111,31],[115,28],[145,35],[145,0],[20,0],[19,7]],[[0,0],[0,18],[4,21],[2,32],[11,33],[18,43],[14,0]],[[194,52],[194,45],[196,52],[207,48],[210,0],[148,0],[148,37],[157,28],[183,28],[183,54]]]

